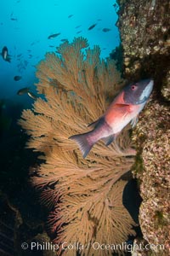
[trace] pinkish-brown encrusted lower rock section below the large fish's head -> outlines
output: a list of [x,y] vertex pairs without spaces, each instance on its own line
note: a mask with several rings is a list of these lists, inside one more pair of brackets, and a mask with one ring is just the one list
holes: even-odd
[[[169,255],[170,207],[170,114],[168,108],[150,100],[133,134],[140,153],[135,177],[140,181],[143,202],[139,224],[144,239],[154,245],[158,255]],[[137,161],[139,162],[139,160]]]

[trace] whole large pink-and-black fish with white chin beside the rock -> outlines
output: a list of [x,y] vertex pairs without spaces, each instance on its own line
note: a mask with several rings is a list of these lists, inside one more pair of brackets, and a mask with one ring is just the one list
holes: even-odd
[[128,123],[131,122],[133,126],[136,124],[138,115],[144,108],[152,88],[153,80],[151,79],[128,84],[116,96],[103,116],[91,124],[94,126],[94,130],[70,137],[78,143],[83,158],[100,139],[109,145]]

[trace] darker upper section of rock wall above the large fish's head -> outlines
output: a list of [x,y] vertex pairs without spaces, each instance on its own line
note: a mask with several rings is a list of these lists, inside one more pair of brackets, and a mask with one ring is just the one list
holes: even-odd
[[117,0],[117,3],[120,5],[117,26],[122,39],[126,78],[151,76],[159,90],[163,80],[163,91],[166,91],[163,96],[169,99],[169,1]]

